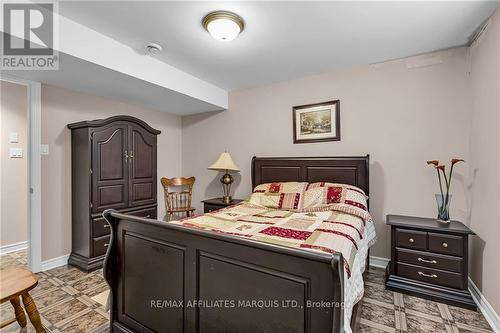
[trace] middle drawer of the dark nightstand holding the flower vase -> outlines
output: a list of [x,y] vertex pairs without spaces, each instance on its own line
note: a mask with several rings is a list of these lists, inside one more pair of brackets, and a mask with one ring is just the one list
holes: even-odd
[[396,249],[396,261],[456,273],[462,272],[463,259],[410,249]]

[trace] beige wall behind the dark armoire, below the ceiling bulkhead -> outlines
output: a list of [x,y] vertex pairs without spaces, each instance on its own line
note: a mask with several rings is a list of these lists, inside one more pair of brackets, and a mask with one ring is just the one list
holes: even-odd
[[[132,115],[162,133],[158,136],[158,176],[181,173],[181,118],[165,112],[42,86],[42,260],[71,252],[71,136],[67,124],[114,115]],[[158,186],[159,217],[164,212]]]

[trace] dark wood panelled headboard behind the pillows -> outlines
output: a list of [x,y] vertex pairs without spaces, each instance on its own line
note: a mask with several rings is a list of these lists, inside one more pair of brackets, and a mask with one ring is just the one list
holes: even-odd
[[252,188],[272,182],[331,182],[354,185],[369,195],[370,155],[353,157],[252,158]]

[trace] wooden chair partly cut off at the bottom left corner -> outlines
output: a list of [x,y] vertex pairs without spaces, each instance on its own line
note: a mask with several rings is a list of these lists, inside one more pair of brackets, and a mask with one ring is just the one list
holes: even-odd
[[7,320],[0,323],[0,328],[12,324],[17,320],[21,328],[26,327],[26,315],[21,307],[19,296],[23,300],[24,308],[28,313],[31,323],[35,327],[36,333],[45,333],[42,326],[40,314],[36,308],[35,302],[28,293],[38,284],[38,278],[30,271],[17,266],[7,267],[0,271],[0,300],[1,303],[10,301],[14,307],[16,319]]

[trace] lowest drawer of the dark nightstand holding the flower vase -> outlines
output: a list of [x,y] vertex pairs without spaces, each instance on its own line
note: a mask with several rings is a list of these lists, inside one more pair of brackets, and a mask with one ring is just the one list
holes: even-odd
[[458,273],[403,264],[399,262],[397,263],[396,270],[399,276],[412,280],[438,284],[450,288],[464,289],[462,275]]

